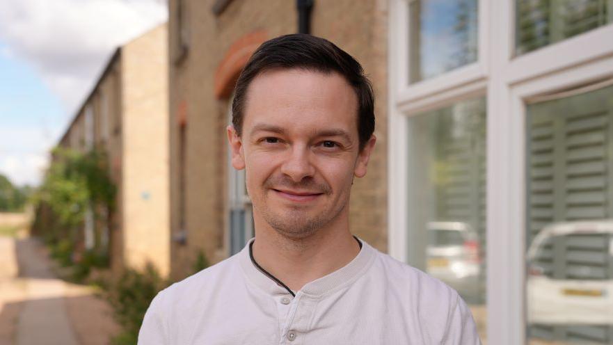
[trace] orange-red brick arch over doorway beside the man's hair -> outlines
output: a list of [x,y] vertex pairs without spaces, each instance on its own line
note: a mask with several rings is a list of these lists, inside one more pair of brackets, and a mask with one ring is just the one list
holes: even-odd
[[251,54],[266,41],[268,35],[264,30],[253,31],[234,41],[215,71],[215,97],[229,97],[234,90],[241,70]]

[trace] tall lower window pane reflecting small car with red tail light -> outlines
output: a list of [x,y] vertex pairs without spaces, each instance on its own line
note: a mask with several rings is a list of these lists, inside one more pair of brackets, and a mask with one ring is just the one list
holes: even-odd
[[486,337],[486,101],[408,120],[408,260],[456,289]]

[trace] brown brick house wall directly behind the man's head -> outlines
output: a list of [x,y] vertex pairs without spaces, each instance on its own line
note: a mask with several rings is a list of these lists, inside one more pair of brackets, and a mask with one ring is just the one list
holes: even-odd
[[[353,186],[350,219],[354,234],[383,251],[386,6],[384,0],[317,1],[310,18],[310,33],[356,57],[374,84],[377,144],[367,176]],[[299,10],[287,0],[170,0],[169,9],[171,275],[182,278],[198,252],[218,262],[253,236],[243,172],[228,162],[232,88],[262,42],[298,32]]]

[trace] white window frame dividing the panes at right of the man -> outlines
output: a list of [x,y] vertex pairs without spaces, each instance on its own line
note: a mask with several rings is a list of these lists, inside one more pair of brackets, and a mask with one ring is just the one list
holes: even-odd
[[[479,61],[408,84],[408,2],[389,0],[388,248],[406,262],[408,118],[487,96],[487,342],[525,344],[525,104],[613,78],[613,24],[515,56],[514,0],[479,1]],[[519,231],[518,231],[519,230]]]

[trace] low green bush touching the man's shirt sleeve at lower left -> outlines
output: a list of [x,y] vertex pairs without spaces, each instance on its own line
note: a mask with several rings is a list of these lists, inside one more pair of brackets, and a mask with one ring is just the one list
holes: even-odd
[[111,284],[109,300],[123,329],[113,344],[136,344],[145,312],[158,291],[168,285],[151,264],[143,272],[127,269],[120,279]]

